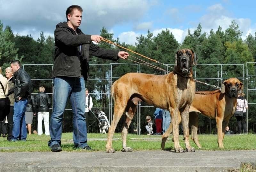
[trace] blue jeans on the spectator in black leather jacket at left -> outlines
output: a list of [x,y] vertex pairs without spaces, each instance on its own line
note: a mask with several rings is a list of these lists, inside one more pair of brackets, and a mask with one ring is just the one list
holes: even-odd
[[12,141],[23,140],[26,141],[27,129],[25,121],[25,111],[28,104],[27,99],[21,99],[14,102],[13,108],[13,128],[12,128]]

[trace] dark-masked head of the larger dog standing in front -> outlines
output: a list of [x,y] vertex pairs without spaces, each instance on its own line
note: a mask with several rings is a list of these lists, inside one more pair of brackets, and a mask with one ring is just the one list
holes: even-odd
[[192,64],[197,65],[197,58],[191,49],[180,49],[176,52],[174,70],[184,77],[192,77]]

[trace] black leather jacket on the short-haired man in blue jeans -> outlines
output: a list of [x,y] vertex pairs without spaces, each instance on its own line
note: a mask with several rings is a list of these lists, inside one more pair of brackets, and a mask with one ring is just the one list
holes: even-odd
[[20,68],[14,73],[13,77],[15,101],[19,101],[19,97],[22,99],[30,99],[32,83],[28,73]]

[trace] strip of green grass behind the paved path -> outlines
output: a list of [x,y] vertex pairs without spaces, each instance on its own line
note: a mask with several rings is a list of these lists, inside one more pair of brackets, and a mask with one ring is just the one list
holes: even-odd
[[[72,133],[62,133],[62,150],[68,152],[79,152],[81,149],[76,149],[72,141]],[[122,139],[120,133],[114,134],[113,148],[116,151],[122,149]],[[27,141],[9,142],[6,138],[0,138],[0,152],[41,152],[51,151],[47,145],[49,136],[38,136],[36,134],[28,135]],[[88,133],[88,145],[94,151],[105,151],[107,135],[99,133]],[[92,139],[92,140],[91,140]],[[103,139],[103,140],[94,140]],[[200,150],[256,150],[256,135],[227,135],[224,138],[224,149],[219,149],[217,144],[217,135],[199,135],[199,142],[203,147]],[[190,139],[190,145],[196,150],[199,150],[194,142]],[[127,146],[132,147],[134,151],[141,150],[160,150],[161,136],[135,135],[128,134]],[[180,135],[180,146],[185,149],[183,136]],[[168,138],[165,144],[167,150],[173,149],[172,135]]]

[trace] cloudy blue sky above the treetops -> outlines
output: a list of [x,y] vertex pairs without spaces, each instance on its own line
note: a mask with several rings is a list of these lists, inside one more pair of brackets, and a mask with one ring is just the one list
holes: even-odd
[[56,24],[66,21],[65,11],[73,4],[84,10],[80,28],[85,34],[100,34],[104,26],[129,44],[135,44],[136,37],[146,35],[148,29],[154,35],[169,29],[182,42],[188,28],[193,31],[199,23],[209,33],[219,25],[225,30],[235,20],[243,39],[256,32],[256,1],[252,0],[0,0],[0,20],[15,34],[31,34],[37,39],[43,31],[53,36]]

